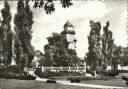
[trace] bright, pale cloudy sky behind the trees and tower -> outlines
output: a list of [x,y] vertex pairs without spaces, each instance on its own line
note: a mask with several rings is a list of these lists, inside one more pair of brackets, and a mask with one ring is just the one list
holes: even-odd
[[[16,13],[16,3],[16,1],[9,1],[12,17]],[[63,31],[66,21],[70,21],[75,28],[76,51],[79,57],[84,57],[88,52],[87,36],[91,29],[90,20],[100,21],[102,27],[109,21],[109,30],[113,32],[114,43],[127,46],[127,0],[79,0],[73,1],[73,6],[66,9],[62,8],[59,1],[55,1],[56,10],[50,15],[47,15],[43,9],[32,8],[32,2],[30,4],[34,20],[32,45],[35,50],[43,52],[44,45],[48,43],[47,37],[51,36],[53,32]],[[0,1],[0,10],[2,8],[3,1]],[[11,26],[13,30],[13,18]]]

